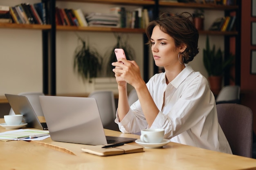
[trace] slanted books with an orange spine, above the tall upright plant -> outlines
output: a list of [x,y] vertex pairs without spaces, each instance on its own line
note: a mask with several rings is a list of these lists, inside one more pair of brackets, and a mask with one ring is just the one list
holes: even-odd
[[236,16],[226,16],[216,18],[216,20],[211,25],[211,31],[231,31],[234,27]]

